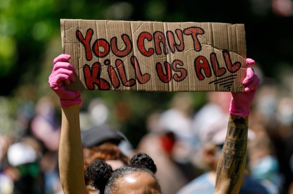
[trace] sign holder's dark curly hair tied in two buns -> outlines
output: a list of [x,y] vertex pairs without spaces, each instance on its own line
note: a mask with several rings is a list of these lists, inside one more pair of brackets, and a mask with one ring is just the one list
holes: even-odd
[[115,190],[115,180],[132,172],[147,172],[158,182],[155,176],[157,167],[153,159],[145,153],[137,153],[130,159],[130,164],[112,170],[112,167],[102,160],[94,160],[86,168],[86,175],[91,180],[91,186],[99,189],[100,194],[112,193]]

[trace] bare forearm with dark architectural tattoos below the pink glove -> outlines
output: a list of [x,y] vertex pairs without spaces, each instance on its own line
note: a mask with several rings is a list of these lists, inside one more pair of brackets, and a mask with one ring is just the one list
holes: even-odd
[[248,118],[230,116],[226,140],[218,162],[216,188],[238,193],[247,151]]

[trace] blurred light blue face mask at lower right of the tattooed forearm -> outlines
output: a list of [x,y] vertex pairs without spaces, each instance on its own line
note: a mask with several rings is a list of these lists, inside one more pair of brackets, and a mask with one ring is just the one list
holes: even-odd
[[279,162],[274,156],[268,155],[260,158],[251,166],[251,176],[257,180],[275,181],[279,173]]

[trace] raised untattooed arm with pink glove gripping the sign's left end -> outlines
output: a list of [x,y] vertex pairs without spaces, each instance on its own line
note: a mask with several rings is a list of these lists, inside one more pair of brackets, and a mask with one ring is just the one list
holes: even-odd
[[68,62],[70,55],[61,54],[54,59],[49,76],[52,90],[59,96],[62,108],[62,126],[59,144],[59,173],[65,194],[85,193],[83,153],[80,138],[79,91],[66,91],[65,84],[75,81],[75,68]]

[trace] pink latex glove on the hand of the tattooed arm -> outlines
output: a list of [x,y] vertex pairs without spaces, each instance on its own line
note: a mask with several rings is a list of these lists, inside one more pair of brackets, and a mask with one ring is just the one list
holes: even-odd
[[[254,60],[246,59],[247,66],[253,65]],[[248,117],[250,113],[250,106],[256,93],[256,88],[259,85],[259,78],[254,74],[252,68],[246,69],[246,78],[243,80],[245,92],[231,92],[232,99],[230,102],[229,113],[234,116]]]

